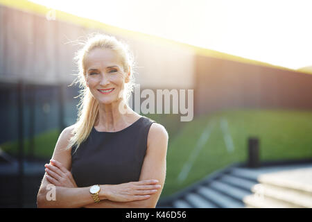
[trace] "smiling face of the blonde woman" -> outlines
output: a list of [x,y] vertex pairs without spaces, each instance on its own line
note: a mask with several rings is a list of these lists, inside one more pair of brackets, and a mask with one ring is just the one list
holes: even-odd
[[121,64],[111,49],[93,49],[85,58],[87,87],[99,103],[110,104],[123,98],[129,74],[125,74]]

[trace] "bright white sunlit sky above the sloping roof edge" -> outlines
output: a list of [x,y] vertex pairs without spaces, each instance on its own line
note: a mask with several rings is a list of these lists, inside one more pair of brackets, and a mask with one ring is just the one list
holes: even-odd
[[31,0],[80,17],[272,65],[312,65],[311,0]]

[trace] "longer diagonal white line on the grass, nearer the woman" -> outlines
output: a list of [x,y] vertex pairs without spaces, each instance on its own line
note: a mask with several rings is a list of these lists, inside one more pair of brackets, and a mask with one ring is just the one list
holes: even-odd
[[207,143],[207,140],[209,138],[209,135],[211,133],[211,130],[214,128],[214,121],[209,121],[207,124],[207,127],[202,132],[202,135],[200,135],[200,139],[198,139],[198,142],[193,149],[189,160],[184,164],[182,171],[180,172],[179,176],[177,177],[177,180],[181,183],[183,182],[187,176],[189,175],[189,171],[191,171],[191,167],[193,166],[194,161],[196,160],[196,157],[202,150],[202,147]]

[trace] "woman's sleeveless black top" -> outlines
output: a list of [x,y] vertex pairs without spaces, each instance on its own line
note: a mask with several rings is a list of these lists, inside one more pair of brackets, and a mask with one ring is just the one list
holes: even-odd
[[77,186],[139,181],[153,122],[141,117],[117,132],[98,132],[93,127],[77,151],[76,146],[71,148],[71,173]]

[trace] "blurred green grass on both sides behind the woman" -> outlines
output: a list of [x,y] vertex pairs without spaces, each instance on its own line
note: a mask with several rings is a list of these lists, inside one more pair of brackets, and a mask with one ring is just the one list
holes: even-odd
[[[258,137],[261,160],[295,160],[312,157],[312,112],[293,110],[227,110],[180,122],[177,114],[146,115],[165,126],[169,134],[166,182],[162,197],[191,185],[208,174],[248,157],[248,137]],[[227,151],[220,120],[227,121],[234,151]],[[214,122],[209,138],[196,156],[187,178],[177,177],[189,160],[198,139],[210,121]],[[35,156],[50,158],[58,130],[35,137]],[[1,144],[4,151],[17,152],[17,142]],[[29,141],[25,142],[26,153]]]

